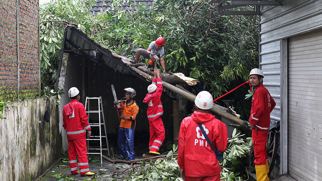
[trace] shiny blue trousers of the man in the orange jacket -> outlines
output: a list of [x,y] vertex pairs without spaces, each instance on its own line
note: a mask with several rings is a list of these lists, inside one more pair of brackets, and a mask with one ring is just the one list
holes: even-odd
[[118,130],[118,153],[120,157],[128,160],[134,160],[134,130],[130,128],[119,127]]

